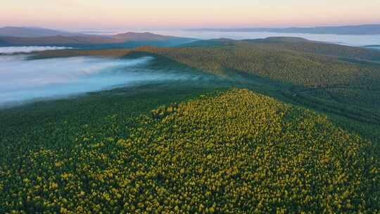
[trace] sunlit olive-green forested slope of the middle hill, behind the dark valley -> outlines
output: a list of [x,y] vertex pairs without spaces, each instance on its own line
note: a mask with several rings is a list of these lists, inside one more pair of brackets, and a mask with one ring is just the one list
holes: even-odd
[[[375,68],[359,66],[340,61],[338,58],[289,51],[276,46],[238,42],[234,45],[170,49],[147,46],[137,50],[167,56],[186,65],[203,68],[205,71],[216,74],[222,74],[225,69],[232,69],[307,87],[336,84],[365,85],[367,87],[380,85],[380,73],[378,72],[380,65]],[[279,46],[281,47],[281,44]],[[307,47],[305,46],[304,49]],[[380,51],[375,52],[379,52],[380,56]]]

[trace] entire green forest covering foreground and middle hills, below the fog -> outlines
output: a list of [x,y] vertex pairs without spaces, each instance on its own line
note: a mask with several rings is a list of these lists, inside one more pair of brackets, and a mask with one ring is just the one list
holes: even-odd
[[175,80],[0,109],[0,213],[379,213],[380,51],[304,39],[42,51]]

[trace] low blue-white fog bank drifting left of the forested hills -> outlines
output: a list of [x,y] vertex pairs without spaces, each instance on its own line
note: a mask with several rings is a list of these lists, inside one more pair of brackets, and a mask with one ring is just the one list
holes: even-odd
[[0,105],[51,99],[102,89],[197,78],[178,70],[153,70],[152,57],[137,59],[72,57],[27,60],[0,56]]

